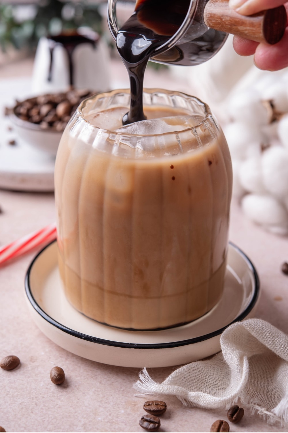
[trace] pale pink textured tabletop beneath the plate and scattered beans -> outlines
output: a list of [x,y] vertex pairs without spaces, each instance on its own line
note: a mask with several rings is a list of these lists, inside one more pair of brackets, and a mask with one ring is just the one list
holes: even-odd
[[[53,194],[0,191],[0,207],[0,245],[55,219]],[[288,261],[287,238],[253,225],[234,201],[230,239],[250,257],[260,275],[262,293],[256,317],[288,333],[288,277],[280,270],[282,262]],[[0,370],[0,425],[7,432],[143,432],[138,424],[144,414],[142,404],[152,398],[161,400],[161,396],[134,395],[132,386],[139,369],[99,364],[66,352],[32,321],[24,277],[35,254],[36,250],[0,267],[0,359],[12,354],[21,360],[14,371]],[[60,386],[50,381],[55,365],[66,374]],[[149,373],[162,381],[172,370],[154,368]],[[161,417],[162,432],[207,432],[216,419],[226,419],[224,410],[184,407],[176,397],[165,397],[165,401],[168,409]],[[248,413],[238,425],[230,423],[230,429],[287,431]]]

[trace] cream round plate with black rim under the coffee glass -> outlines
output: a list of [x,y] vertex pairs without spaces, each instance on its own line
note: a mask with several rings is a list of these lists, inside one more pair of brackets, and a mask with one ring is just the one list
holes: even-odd
[[128,331],[89,319],[70,305],[61,286],[56,241],[35,257],[25,278],[30,312],[48,338],[83,358],[124,367],[166,367],[213,355],[227,326],[253,316],[259,289],[250,259],[230,243],[223,296],[209,313],[167,330]]

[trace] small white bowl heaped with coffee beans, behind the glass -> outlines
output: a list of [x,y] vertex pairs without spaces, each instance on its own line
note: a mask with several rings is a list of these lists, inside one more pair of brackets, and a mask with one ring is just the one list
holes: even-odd
[[93,92],[70,88],[65,93],[45,94],[17,101],[10,110],[16,133],[28,145],[56,156],[63,130],[79,103]]

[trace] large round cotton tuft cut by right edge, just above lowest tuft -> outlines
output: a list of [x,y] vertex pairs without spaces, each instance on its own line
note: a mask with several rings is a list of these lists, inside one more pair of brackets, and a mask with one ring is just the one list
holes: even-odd
[[263,184],[277,197],[288,196],[288,149],[272,146],[261,158]]

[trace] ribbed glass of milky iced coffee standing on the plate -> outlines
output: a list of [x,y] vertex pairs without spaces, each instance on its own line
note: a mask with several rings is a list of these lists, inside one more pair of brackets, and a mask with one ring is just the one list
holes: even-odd
[[59,268],[67,299],[98,322],[156,330],[220,300],[232,171],[209,107],[143,92],[147,120],[122,125],[129,90],[79,106],[55,166]]

